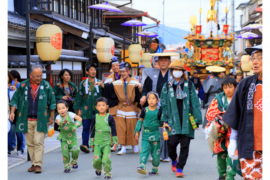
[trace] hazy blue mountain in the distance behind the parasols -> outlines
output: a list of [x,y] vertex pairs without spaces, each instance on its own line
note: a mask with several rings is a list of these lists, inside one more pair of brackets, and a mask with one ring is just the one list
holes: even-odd
[[[142,30],[144,28],[148,28],[148,27],[152,27],[152,26],[156,26],[156,24],[142,26]],[[155,32],[158,34],[158,37],[162,37],[162,26],[163,25],[160,24],[160,25],[158,25],[158,27],[149,28],[146,30],[151,31],[151,32]],[[183,29],[171,28],[168,26],[164,26],[164,41],[162,44],[164,44],[165,46],[167,44],[184,44],[184,42],[186,42],[187,40],[184,40],[183,36],[187,36],[185,34],[188,34],[188,33],[190,33],[190,32],[185,31]]]

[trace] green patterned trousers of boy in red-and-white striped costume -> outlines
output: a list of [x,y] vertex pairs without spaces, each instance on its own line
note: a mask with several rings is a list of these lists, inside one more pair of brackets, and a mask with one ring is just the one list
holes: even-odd
[[231,161],[232,159],[229,157],[227,151],[223,151],[217,154],[217,172],[219,177],[223,179],[234,180],[236,172],[232,170],[230,166]]

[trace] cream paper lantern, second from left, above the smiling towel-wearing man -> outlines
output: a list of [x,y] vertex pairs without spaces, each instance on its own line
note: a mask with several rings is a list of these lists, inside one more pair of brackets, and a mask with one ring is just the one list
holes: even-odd
[[114,41],[110,36],[102,36],[97,41],[97,58],[102,63],[110,63],[114,56]]

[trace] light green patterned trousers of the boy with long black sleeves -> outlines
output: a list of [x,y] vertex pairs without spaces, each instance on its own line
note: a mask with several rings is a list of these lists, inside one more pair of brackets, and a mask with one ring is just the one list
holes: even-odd
[[93,168],[100,169],[102,168],[102,164],[104,166],[104,171],[106,173],[110,173],[112,170],[111,167],[111,146],[103,145],[103,146],[94,146],[94,158],[93,158]]

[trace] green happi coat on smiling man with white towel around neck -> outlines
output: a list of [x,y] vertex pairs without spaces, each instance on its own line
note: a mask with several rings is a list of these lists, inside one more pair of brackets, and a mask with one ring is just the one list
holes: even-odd
[[[76,94],[75,101],[73,103],[74,112],[76,110],[81,110],[81,117],[82,119],[92,119],[93,117],[93,110],[95,110],[95,114],[99,113],[95,106],[96,100],[102,97],[101,86],[98,86],[99,93],[97,92],[96,87],[92,87],[89,91],[88,95],[86,96],[85,100],[83,101],[85,94],[85,80],[83,80],[79,85],[79,91]],[[97,79],[98,82],[101,80]],[[88,88],[90,88],[92,83],[88,82]],[[93,89],[93,91],[92,91]]]

